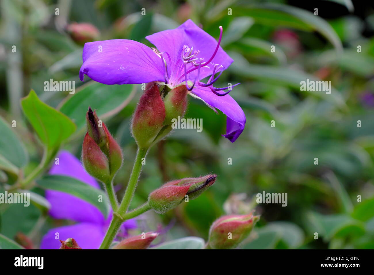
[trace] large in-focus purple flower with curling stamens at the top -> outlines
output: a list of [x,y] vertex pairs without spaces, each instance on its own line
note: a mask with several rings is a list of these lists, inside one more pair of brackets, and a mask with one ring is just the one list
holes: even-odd
[[[87,74],[104,84],[139,84],[164,82],[170,88],[186,85],[193,97],[227,116],[226,135],[231,142],[243,132],[245,114],[227,95],[235,85],[216,88],[214,83],[233,62],[208,33],[190,19],[174,30],[145,37],[157,49],[133,40],[115,39],[86,43],[79,77]],[[214,78],[216,73],[220,73]],[[201,82],[210,76],[208,83]],[[239,83],[238,83],[239,84]],[[228,90],[227,92],[222,92]]]

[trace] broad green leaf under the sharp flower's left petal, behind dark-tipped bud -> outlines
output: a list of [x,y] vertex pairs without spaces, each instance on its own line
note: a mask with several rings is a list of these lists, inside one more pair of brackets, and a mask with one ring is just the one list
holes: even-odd
[[91,81],[69,95],[60,111],[70,117],[81,129],[86,124],[88,107],[96,110],[100,119],[113,116],[122,110],[135,94],[135,85],[105,85]]

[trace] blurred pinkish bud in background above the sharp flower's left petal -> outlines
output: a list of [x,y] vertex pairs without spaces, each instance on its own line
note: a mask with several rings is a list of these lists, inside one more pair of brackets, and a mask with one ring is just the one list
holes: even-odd
[[66,28],[71,39],[79,45],[97,40],[100,36],[99,30],[89,23],[71,23]]

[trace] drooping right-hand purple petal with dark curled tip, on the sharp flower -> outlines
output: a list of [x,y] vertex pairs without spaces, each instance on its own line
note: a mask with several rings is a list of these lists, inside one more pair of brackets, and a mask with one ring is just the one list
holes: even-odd
[[192,90],[191,95],[198,97],[209,106],[217,108],[226,114],[226,135],[224,135],[224,137],[229,139],[231,142],[234,142],[243,132],[246,122],[245,114],[239,104],[237,104],[230,95],[219,97],[208,87],[202,86],[195,87]]

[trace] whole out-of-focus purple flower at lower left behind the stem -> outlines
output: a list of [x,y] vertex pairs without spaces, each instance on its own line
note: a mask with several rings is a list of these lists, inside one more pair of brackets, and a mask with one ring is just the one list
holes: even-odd
[[[99,188],[96,180],[87,174],[79,159],[67,151],[58,155],[59,165],[53,165],[49,174],[65,175],[76,178],[95,188]],[[109,226],[112,213],[105,219],[104,215],[93,205],[80,198],[67,193],[46,190],[46,199],[50,202],[50,216],[55,219],[66,219],[77,221],[74,225],[61,226],[50,229],[43,236],[41,249],[58,249],[60,242],[56,239],[56,233],[60,240],[74,238],[82,249],[99,248]],[[136,228],[135,219],[127,220],[122,224],[121,236],[127,235],[127,230]]]

